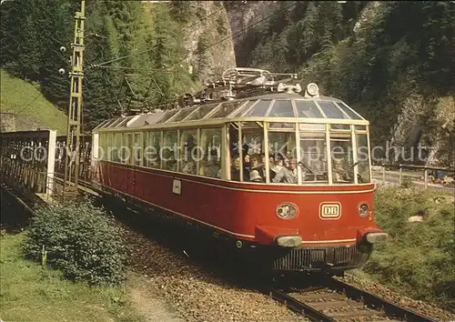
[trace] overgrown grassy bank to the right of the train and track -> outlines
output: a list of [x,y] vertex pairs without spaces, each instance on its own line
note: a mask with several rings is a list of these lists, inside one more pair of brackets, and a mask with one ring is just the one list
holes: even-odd
[[[436,204],[444,195],[416,186],[379,189],[376,220],[390,240],[375,247],[363,270],[406,295],[455,311],[455,208]],[[423,223],[409,223],[421,215]]]

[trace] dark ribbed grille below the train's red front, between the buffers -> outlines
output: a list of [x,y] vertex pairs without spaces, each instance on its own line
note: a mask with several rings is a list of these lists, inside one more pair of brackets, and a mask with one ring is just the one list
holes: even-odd
[[313,270],[323,267],[355,267],[363,264],[369,253],[358,247],[311,247],[279,250],[272,267],[277,270]]

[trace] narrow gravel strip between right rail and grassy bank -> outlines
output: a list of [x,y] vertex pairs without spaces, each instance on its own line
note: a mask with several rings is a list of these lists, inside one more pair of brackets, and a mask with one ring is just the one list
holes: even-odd
[[377,282],[359,278],[351,274],[345,274],[345,277],[339,279],[354,287],[359,287],[369,293],[388,299],[390,302],[399,304],[402,307],[414,310],[423,316],[432,317],[437,321],[455,321],[455,315],[450,312],[435,307],[427,302],[404,297],[402,294],[392,291],[388,287],[384,287]]

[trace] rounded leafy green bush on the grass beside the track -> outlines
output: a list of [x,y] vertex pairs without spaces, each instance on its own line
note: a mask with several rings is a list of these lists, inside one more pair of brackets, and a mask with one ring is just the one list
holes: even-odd
[[61,269],[68,279],[118,285],[127,264],[121,234],[113,220],[90,202],[66,202],[38,209],[23,249],[25,257]]

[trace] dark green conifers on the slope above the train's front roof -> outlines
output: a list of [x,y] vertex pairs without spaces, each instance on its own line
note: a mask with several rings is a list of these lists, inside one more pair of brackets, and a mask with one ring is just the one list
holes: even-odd
[[317,82],[322,93],[366,116],[372,144],[383,145],[411,93],[453,94],[455,4],[378,4],[360,19],[370,2],[298,3],[248,30],[237,45],[238,64],[298,72]]

